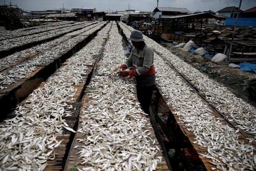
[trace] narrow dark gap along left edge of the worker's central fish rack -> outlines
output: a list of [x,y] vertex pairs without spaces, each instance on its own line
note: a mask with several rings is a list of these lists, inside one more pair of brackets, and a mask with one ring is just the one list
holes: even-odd
[[[111,24],[111,27],[112,27],[112,24]],[[110,30],[111,29],[109,29],[109,31]],[[106,41],[108,41],[109,31],[108,31],[108,37],[106,38],[105,42],[103,43],[103,48],[105,47]],[[83,98],[85,97],[85,94],[87,93],[86,90],[87,90],[88,85],[90,84],[90,81],[95,76],[98,64],[99,64],[99,62],[100,62],[102,57],[103,57],[103,50],[100,52],[100,54],[96,58],[95,63],[93,65],[93,69],[88,74],[88,77],[87,77],[87,80],[85,82],[85,85],[83,86],[82,91],[79,94],[79,98],[78,98],[78,100],[76,102],[76,108],[77,108],[76,111],[78,112],[78,114],[77,114],[77,117],[75,119],[75,124],[74,124],[74,128],[73,128],[76,132],[77,132],[78,127],[79,127],[79,116],[80,116],[79,112],[80,112],[80,109],[82,107]],[[69,163],[68,159],[70,157],[70,151],[71,151],[72,148],[74,148],[74,141],[75,141],[76,135],[77,135],[77,133],[71,133],[71,135],[70,135],[69,142],[67,143],[64,159],[62,161],[62,170],[67,170],[67,165]]]

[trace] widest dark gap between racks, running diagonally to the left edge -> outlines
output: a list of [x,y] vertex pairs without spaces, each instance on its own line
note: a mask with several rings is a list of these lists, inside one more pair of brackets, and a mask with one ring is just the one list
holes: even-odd
[[[106,24],[103,25],[103,27],[105,26]],[[15,83],[11,86],[10,91],[5,94],[0,94],[0,107],[2,109],[0,122],[2,122],[2,120],[6,119],[7,117],[14,117],[15,114],[13,114],[13,111],[17,104],[26,99],[27,96],[41,84],[41,82],[47,80],[49,76],[56,72],[56,70],[61,67],[63,62],[65,62],[75,52],[79,51],[87,43],[89,43],[97,35],[98,31],[100,31],[103,27],[96,30],[90,36],[87,36],[87,38],[77,43],[73,48],[64,52],[64,54],[58,57],[58,59],[55,59],[50,64],[41,67],[40,70],[32,74],[32,76],[27,80],[22,81],[22,83]]]

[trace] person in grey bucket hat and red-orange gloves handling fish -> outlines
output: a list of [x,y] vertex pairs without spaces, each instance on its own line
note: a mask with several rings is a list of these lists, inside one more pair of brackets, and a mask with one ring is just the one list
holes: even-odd
[[119,65],[121,71],[118,75],[135,77],[137,98],[143,111],[150,114],[151,96],[155,86],[154,52],[143,40],[142,31],[132,31],[128,40],[132,41],[132,51],[126,62]]

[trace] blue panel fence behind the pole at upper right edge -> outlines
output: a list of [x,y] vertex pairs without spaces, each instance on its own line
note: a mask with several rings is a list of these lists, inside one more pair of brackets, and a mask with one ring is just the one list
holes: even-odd
[[[226,18],[225,25],[235,25],[236,18]],[[256,18],[238,18],[237,26],[240,27],[256,27]]]

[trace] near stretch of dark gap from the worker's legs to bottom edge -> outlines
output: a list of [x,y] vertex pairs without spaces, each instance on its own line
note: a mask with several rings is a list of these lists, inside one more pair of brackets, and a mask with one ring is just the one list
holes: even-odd
[[[188,135],[184,134],[181,126],[166,104],[161,90],[157,87],[153,93],[151,104],[151,119],[156,123],[156,129],[160,132],[161,141],[168,150],[168,157],[173,170],[207,170],[197,151],[190,143]],[[161,114],[161,117],[160,115]],[[166,119],[166,117],[168,118]],[[186,152],[190,155],[185,155]]]

